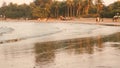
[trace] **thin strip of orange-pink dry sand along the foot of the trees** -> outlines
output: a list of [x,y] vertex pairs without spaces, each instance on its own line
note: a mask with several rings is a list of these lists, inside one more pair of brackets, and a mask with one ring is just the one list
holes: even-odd
[[120,26],[120,20],[113,22],[112,18],[104,18],[103,21],[96,22],[96,18],[74,18],[72,20],[60,20],[60,19],[42,19],[42,20],[20,20],[20,19],[6,19],[0,20],[0,22],[26,22],[26,23],[81,23],[81,24],[95,24],[95,25],[106,25],[106,26]]

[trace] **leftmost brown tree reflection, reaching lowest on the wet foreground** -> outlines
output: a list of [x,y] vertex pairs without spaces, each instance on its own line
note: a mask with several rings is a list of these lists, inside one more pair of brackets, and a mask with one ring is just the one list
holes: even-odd
[[54,46],[51,43],[39,45],[38,43],[35,45],[35,53],[36,55],[36,62],[49,62],[53,61],[55,54],[54,54]]

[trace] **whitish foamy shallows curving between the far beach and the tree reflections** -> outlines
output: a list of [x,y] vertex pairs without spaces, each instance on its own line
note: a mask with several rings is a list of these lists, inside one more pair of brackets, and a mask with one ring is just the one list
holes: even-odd
[[[30,42],[46,42],[83,37],[95,37],[98,35],[110,35],[120,31],[119,26],[103,26],[80,23],[27,23],[4,22],[0,23],[1,33],[10,32],[0,36],[0,41],[11,39],[23,39]],[[9,27],[9,28],[7,28]]]

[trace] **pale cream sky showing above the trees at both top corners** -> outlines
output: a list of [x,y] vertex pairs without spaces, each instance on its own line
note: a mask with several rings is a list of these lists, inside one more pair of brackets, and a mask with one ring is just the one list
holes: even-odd
[[[105,5],[109,5],[110,3],[113,3],[117,0],[103,0],[103,1],[105,2]],[[0,0],[0,6],[2,5],[3,2],[6,2],[7,4],[10,2],[17,4],[22,4],[22,3],[29,4],[30,2],[33,2],[33,0]]]

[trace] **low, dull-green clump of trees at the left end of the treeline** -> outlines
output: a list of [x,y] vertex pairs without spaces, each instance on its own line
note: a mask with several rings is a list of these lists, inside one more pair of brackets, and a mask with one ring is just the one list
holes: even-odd
[[6,18],[31,18],[32,10],[29,5],[17,5],[10,3],[0,8],[0,15]]

